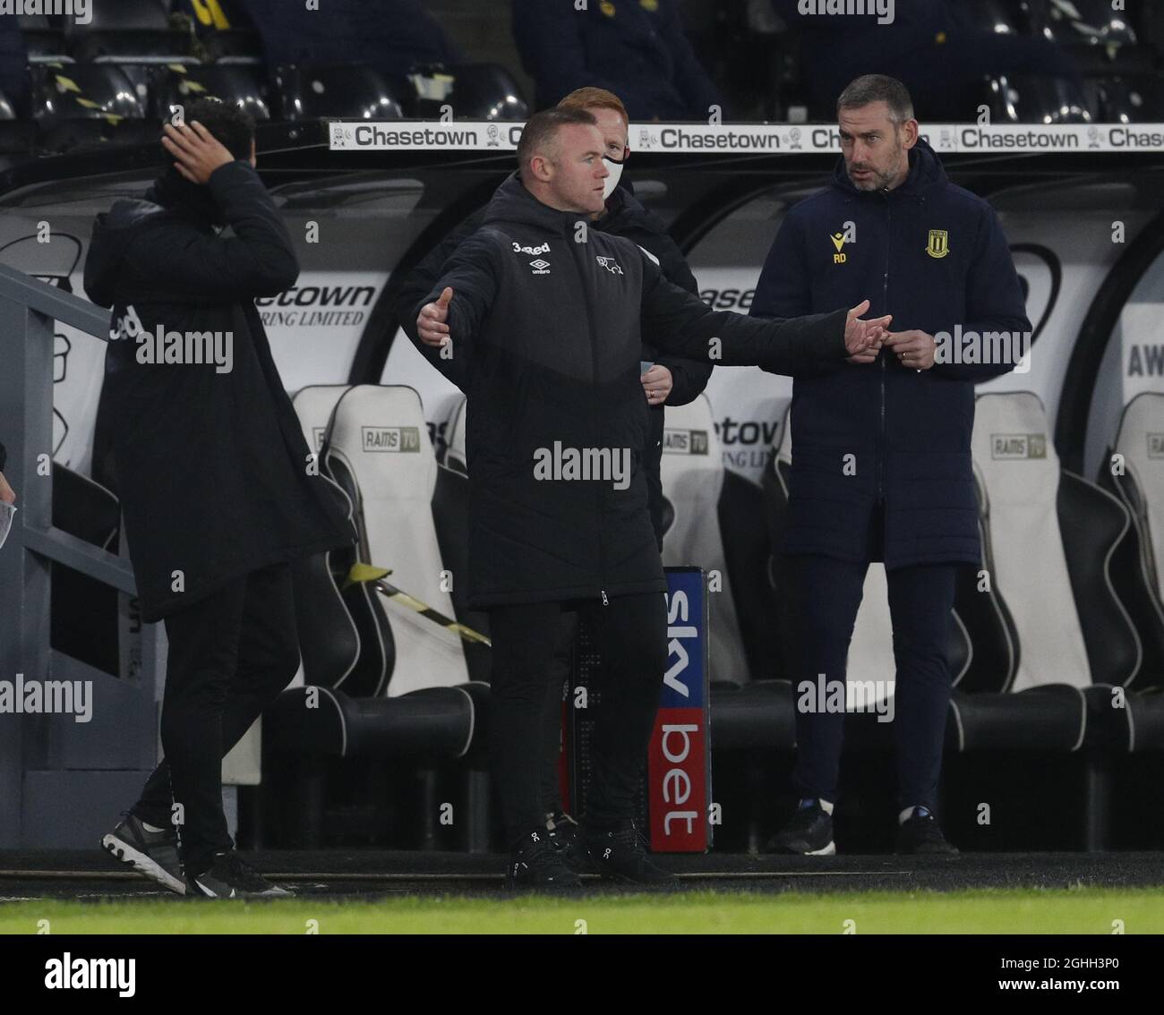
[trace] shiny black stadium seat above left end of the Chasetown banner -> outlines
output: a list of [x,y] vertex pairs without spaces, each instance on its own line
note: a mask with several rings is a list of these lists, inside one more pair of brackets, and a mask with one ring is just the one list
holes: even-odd
[[395,120],[404,115],[399,90],[375,68],[281,66],[275,70],[277,108],[284,120],[360,116]]

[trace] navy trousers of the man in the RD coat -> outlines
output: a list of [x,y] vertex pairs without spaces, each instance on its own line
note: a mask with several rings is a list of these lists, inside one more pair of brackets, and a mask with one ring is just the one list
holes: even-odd
[[[849,643],[861,604],[867,562],[828,556],[788,558],[792,619],[796,632],[794,701],[801,684],[845,680]],[[902,808],[934,809],[946,709],[950,703],[949,634],[956,565],[924,565],[889,570],[893,619],[894,737],[897,795]],[[811,700],[811,698],[809,698]],[[801,797],[837,800],[843,712],[796,708],[796,765],[793,787]]]

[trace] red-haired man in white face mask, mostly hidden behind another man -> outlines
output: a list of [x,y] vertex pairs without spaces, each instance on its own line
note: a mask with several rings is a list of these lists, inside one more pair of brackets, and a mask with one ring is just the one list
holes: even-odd
[[[610,170],[603,186],[604,205],[601,212],[590,215],[595,229],[615,236],[625,236],[638,243],[659,265],[668,282],[698,293],[700,288],[683,257],[683,253],[670,237],[662,220],[636,200],[630,183],[623,179],[623,170],[630,157],[630,118],[618,95],[604,88],[583,87],[570,92],[560,109],[584,109],[592,114],[603,135],[603,158]],[[428,362],[462,391],[468,390],[467,363],[462,360],[443,359],[439,349],[420,341],[417,332],[416,306],[440,278],[440,271],[453,251],[477,229],[485,218],[485,208],[480,208],[456,229],[438,243],[409,274],[396,298],[397,318],[405,333]],[[644,343],[643,360],[651,363],[639,378],[643,393],[651,406],[651,430],[643,448],[643,475],[647,483],[647,506],[655,541],[662,551],[663,495],[662,495],[662,435],[663,406],[687,405],[707,388],[712,363],[707,360],[686,360],[660,353]],[[542,771],[542,805],[546,811],[546,828],[556,831],[556,840],[567,850],[573,850],[576,838],[574,819],[562,808],[558,776],[560,731],[562,725],[562,683],[569,677],[573,645],[577,629],[577,613],[562,613],[562,629],[554,653],[558,670],[546,686],[546,751]],[[560,676],[559,676],[560,675]]]

